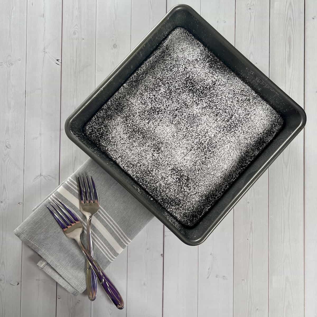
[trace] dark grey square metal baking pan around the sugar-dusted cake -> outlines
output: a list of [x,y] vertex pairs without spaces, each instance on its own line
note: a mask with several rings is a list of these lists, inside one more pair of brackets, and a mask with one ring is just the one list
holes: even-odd
[[[173,218],[165,208],[90,141],[83,132],[87,121],[176,27],[187,29],[267,101],[284,120],[280,132],[193,227],[186,227]],[[130,191],[181,241],[189,245],[197,245],[209,236],[251,185],[301,131],[305,123],[305,112],[294,100],[270,81],[195,10],[180,4],[166,14],[120,65],[68,117],[65,123],[65,132],[76,145]]]

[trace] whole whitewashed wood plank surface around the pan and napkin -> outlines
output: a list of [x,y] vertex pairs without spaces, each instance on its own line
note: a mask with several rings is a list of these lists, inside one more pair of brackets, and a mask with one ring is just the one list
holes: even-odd
[[4,0],[0,9],[0,316],[317,316],[317,1],[186,1],[307,113],[305,132],[206,242],[154,219],[74,297],[12,231],[86,159],[68,115],[177,0]]

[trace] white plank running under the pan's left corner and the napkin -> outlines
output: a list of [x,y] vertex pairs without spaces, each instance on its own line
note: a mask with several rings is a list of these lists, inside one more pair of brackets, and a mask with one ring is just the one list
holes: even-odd
[[[63,1],[60,181],[87,159],[64,132],[68,115],[94,90],[96,1]],[[86,292],[73,296],[57,285],[57,316],[90,316]]]

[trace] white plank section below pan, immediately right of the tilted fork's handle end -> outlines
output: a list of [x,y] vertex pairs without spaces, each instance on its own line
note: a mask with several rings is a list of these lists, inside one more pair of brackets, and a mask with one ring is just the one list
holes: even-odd
[[128,248],[127,316],[162,316],[163,224],[153,219]]

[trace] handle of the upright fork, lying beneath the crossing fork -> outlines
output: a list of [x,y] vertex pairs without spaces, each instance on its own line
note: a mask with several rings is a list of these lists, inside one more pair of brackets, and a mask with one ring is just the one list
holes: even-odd
[[[91,257],[94,259],[94,249],[91,240],[91,217],[87,220],[87,250]],[[95,272],[92,270],[90,263],[87,261],[87,272],[86,272],[86,286],[87,295],[91,301],[94,301],[97,297],[98,282]]]

